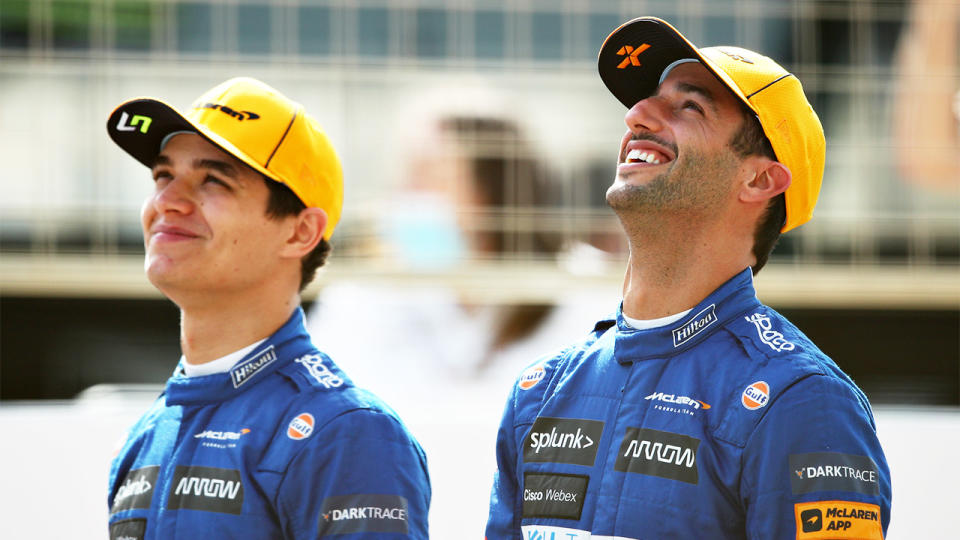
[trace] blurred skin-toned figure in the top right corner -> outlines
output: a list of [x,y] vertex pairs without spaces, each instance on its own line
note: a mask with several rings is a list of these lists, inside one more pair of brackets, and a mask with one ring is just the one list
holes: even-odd
[[910,183],[960,197],[960,1],[914,0],[893,102],[897,165]]

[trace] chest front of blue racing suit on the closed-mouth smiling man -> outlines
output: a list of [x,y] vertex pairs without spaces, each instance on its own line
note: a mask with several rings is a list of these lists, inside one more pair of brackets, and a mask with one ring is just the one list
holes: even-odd
[[148,413],[119,457],[111,537],[159,538],[191,527],[200,529],[188,536],[209,527],[249,537],[276,532],[265,529],[275,521],[273,495],[319,421],[274,403],[283,386],[276,375],[224,402],[160,404]]

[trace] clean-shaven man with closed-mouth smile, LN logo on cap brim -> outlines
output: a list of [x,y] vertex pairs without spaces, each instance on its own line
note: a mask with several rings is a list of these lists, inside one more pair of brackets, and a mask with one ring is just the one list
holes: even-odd
[[147,277],[183,357],[110,470],[110,538],[427,538],[426,458],[304,330],[340,162],[269,86],[231,79],[181,114],[121,104],[110,137],[150,167]]

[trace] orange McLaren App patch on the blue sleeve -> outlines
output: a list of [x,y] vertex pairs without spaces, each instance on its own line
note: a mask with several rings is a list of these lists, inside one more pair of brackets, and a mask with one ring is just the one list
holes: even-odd
[[880,507],[851,501],[816,501],[793,505],[797,540],[882,540]]

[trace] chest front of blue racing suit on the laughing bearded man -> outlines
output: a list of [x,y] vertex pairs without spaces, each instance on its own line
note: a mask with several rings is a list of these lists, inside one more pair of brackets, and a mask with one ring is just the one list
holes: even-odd
[[[741,344],[725,332],[642,361],[618,361],[604,339],[612,340],[558,374],[516,426],[523,522],[735,536],[743,527],[730,520],[742,514],[737,443],[751,426],[730,423],[759,418],[770,382],[745,369]],[[666,528],[650,529],[655,523]]]

